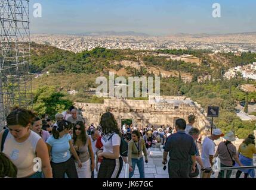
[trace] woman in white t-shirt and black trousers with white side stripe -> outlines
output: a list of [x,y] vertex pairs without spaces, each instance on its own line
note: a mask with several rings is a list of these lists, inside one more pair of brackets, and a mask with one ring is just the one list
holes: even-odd
[[121,131],[112,113],[106,112],[101,116],[100,126],[102,128],[103,151],[97,152],[97,157],[103,159],[98,170],[98,178],[118,178],[123,160],[121,157]]

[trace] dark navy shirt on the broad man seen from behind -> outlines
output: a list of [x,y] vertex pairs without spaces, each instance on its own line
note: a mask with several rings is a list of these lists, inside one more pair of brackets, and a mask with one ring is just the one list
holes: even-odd
[[169,135],[164,150],[169,152],[172,162],[189,162],[191,156],[196,154],[196,144],[185,131],[178,131]]

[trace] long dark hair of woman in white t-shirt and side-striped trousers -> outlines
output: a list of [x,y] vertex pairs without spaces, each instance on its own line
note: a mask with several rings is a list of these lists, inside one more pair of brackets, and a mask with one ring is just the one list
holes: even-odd
[[104,134],[115,132],[120,137],[122,137],[121,131],[118,128],[118,124],[116,123],[116,119],[110,112],[103,113],[100,118],[100,126]]

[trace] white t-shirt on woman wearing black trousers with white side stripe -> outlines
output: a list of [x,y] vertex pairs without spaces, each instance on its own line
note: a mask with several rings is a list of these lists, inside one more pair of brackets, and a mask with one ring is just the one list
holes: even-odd
[[118,134],[114,133],[112,138],[112,134],[104,135],[101,138],[101,143],[103,144],[103,153],[113,153],[113,146],[121,144],[121,137]]

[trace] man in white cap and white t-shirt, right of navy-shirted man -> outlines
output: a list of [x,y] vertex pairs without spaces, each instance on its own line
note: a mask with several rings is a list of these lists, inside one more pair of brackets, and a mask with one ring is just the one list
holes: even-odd
[[220,137],[223,137],[224,134],[221,132],[220,129],[214,129],[212,131],[212,135],[206,137],[203,140],[202,145],[202,155],[201,159],[203,161],[203,167],[205,171],[203,172],[203,178],[210,178],[211,177],[211,168],[213,166],[212,160],[215,155],[215,143],[214,140],[218,140]]

